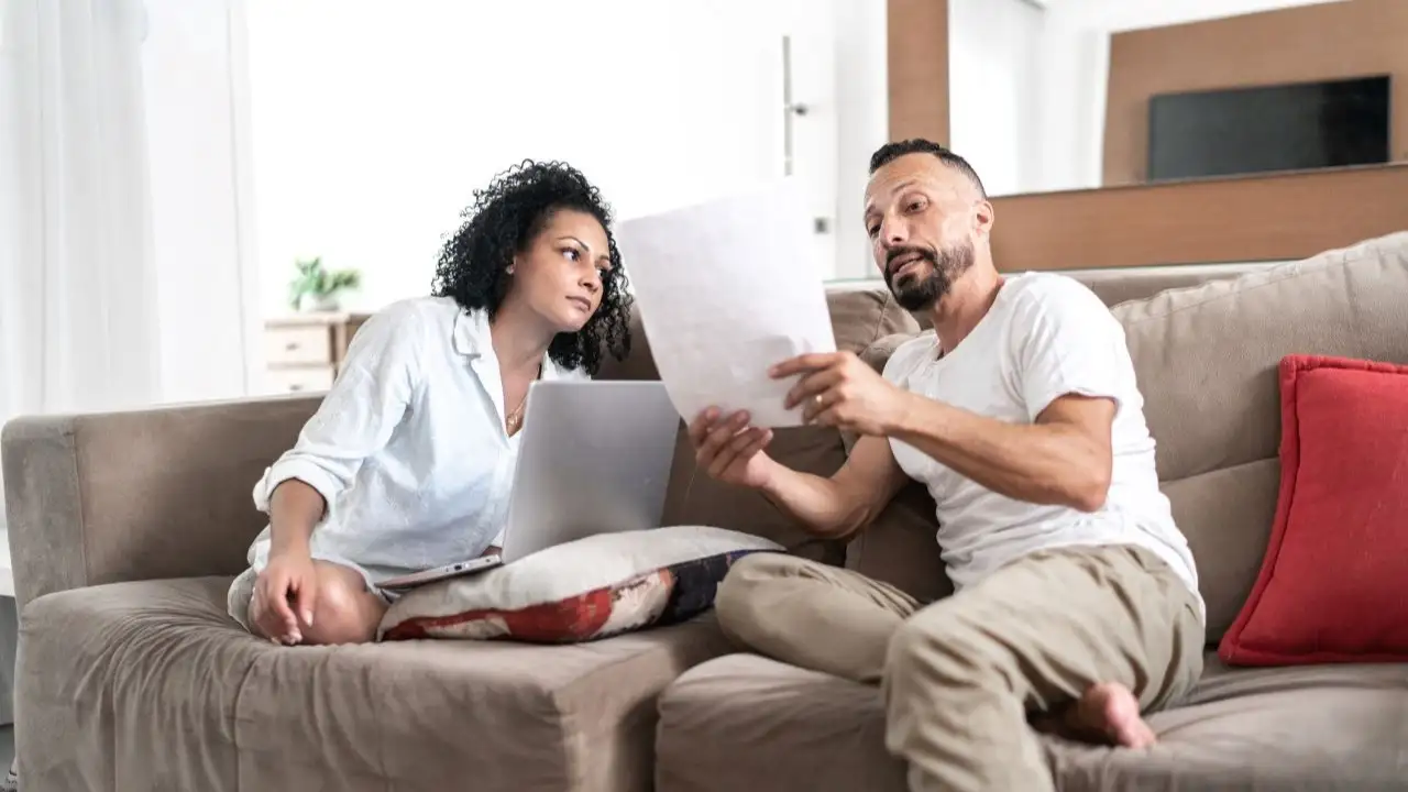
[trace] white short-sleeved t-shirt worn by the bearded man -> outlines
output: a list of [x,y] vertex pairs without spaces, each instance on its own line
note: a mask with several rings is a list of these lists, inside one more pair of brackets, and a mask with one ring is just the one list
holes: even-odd
[[1110,495],[1095,513],[998,495],[912,445],[890,441],[904,472],[924,482],[938,503],[939,547],[955,586],[1038,550],[1132,544],[1163,558],[1197,595],[1193,554],[1159,490],[1155,441],[1124,328],[1079,280],[1052,273],[1008,276],[991,310],[952,352],[939,358],[938,337],[925,333],[895,351],[884,376],[938,402],[1015,424],[1035,423],[1069,393],[1107,396],[1118,404]]

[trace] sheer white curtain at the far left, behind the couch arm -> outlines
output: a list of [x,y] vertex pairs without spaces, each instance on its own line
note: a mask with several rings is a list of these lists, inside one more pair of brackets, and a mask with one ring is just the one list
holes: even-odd
[[0,0],[0,421],[159,395],[145,27],[141,0]]

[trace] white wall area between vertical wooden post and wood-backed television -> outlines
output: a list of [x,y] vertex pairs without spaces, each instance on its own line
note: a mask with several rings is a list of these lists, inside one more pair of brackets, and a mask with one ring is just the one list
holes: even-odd
[[[1024,13],[1015,10],[1019,0],[950,0],[955,149],[973,145],[987,158],[976,165],[984,179],[997,176],[994,194],[1100,186],[1111,32],[1319,1],[1052,0]],[[1012,76],[1022,73],[1033,82],[1024,86]],[[1024,109],[983,97],[1005,86],[1017,86]],[[1015,141],[1004,130],[1014,120]]]

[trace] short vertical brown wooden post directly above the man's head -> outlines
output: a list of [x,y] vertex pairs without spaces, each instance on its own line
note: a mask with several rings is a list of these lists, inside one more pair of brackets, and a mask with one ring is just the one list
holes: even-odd
[[888,0],[890,140],[949,142],[949,3]]

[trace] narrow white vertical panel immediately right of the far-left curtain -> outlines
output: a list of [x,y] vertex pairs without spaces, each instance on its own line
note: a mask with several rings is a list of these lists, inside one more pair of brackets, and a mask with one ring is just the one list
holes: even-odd
[[145,6],[161,395],[165,402],[242,396],[259,357],[244,0]]

